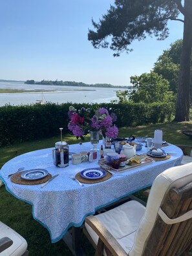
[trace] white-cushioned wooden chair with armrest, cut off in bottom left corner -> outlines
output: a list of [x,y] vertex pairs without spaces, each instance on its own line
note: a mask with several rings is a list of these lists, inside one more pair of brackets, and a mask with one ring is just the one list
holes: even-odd
[[0,221],[0,255],[27,256],[27,241]]

